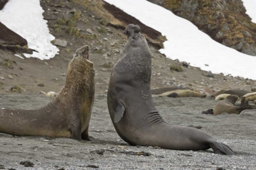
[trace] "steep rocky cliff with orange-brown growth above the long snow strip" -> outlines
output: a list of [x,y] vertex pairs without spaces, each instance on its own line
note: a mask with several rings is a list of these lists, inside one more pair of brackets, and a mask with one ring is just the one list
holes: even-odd
[[241,0],[148,0],[194,23],[215,41],[256,56],[256,24]]

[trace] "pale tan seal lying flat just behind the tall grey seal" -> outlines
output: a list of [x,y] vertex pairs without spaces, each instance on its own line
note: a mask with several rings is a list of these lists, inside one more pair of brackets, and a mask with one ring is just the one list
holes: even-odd
[[202,98],[205,98],[206,95],[205,94],[202,94],[202,93],[198,93],[198,92],[195,92],[195,91],[191,91],[191,90],[173,90],[173,91],[167,91],[159,96],[173,96],[171,95],[172,93],[176,93],[177,95],[179,95],[179,97],[202,97]]

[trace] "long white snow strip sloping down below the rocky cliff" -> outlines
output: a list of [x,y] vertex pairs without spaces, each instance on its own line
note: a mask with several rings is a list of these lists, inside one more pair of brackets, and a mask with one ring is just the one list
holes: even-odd
[[166,35],[168,40],[164,43],[165,48],[159,51],[167,57],[173,60],[178,58],[213,73],[222,72],[256,80],[256,57],[217,43],[193,23],[171,11],[146,0],[105,1]]

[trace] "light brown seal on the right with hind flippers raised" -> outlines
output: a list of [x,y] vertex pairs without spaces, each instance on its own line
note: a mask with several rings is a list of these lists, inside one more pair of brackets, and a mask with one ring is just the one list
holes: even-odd
[[240,114],[243,110],[246,109],[253,109],[250,105],[245,103],[245,98],[243,97],[240,106],[234,106],[238,96],[230,95],[226,97],[226,99],[219,101],[214,109],[213,114],[219,115],[222,113],[229,113],[229,114]]

